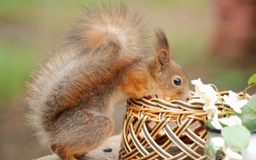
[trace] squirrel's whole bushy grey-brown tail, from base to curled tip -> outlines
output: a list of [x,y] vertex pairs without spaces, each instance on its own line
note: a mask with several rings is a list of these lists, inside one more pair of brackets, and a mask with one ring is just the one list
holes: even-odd
[[[48,60],[44,61],[39,70],[32,76],[31,83],[27,85],[29,117],[40,139],[44,142],[49,141],[47,124],[51,123],[52,118],[58,112],[65,111],[65,108],[76,106],[75,103],[79,103],[79,100],[84,97],[81,93],[88,93],[82,89],[88,88],[90,90],[89,87],[91,86],[86,87],[90,80],[99,80],[99,75],[102,75],[103,79],[104,74],[109,73],[108,68],[114,69],[116,67],[116,70],[121,70],[120,66],[125,66],[125,60],[126,64],[129,62],[129,59],[124,58],[121,61],[123,64],[118,66],[115,65],[114,60],[108,60],[109,57],[105,59],[104,57],[109,55],[107,54],[108,49],[104,52],[98,51],[100,54],[105,53],[101,59],[97,59],[97,56],[92,54],[86,54],[87,59],[80,59],[78,58],[80,55],[78,51],[85,49],[84,53],[94,53],[91,51],[106,46],[107,48],[114,46],[115,49],[119,49],[119,54],[127,54],[128,56],[124,57],[129,57],[131,54],[132,56],[133,54],[142,54],[145,38],[141,19],[137,14],[130,14],[124,6],[85,9],[84,18],[70,33],[71,45],[57,49],[55,54],[50,55]],[[114,54],[114,56],[119,54]],[[85,63],[80,60],[88,61]],[[80,64],[83,64],[84,67],[86,65],[90,67],[89,61],[93,61],[93,66],[107,68],[106,71],[103,71],[104,74],[94,73],[97,77],[92,77],[88,69],[85,73],[78,71],[79,76],[90,75],[90,78],[89,76],[86,77],[86,82],[79,76],[74,77],[75,68],[79,68]]]

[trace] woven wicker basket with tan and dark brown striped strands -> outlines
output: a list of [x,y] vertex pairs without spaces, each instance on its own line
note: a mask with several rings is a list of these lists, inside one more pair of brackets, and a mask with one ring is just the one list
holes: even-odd
[[193,101],[129,100],[119,158],[206,159],[203,149],[207,113],[202,109],[203,103]]

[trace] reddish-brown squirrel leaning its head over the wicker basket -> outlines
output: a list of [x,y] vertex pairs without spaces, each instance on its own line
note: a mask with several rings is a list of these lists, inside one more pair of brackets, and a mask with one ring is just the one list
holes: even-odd
[[113,131],[111,111],[148,95],[187,100],[189,82],[172,60],[164,31],[148,54],[145,26],[125,6],[85,9],[67,46],[44,60],[27,85],[39,139],[63,160],[96,149]]

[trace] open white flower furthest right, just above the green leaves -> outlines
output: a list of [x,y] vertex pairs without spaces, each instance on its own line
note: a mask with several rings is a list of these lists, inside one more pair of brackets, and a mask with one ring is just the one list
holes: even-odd
[[230,105],[234,111],[241,113],[241,107],[247,104],[247,100],[240,100],[239,95],[233,91],[229,91],[229,95],[224,95],[223,99],[226,104]]

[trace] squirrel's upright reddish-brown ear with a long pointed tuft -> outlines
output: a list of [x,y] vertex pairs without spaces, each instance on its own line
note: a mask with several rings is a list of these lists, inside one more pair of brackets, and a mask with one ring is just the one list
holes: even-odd
[[169,43],[166,38],[164,31],[161,29],[155,30],[155,60],[160,69],[163,69],[164,66],[171,63],[171,54],[169,51]]

